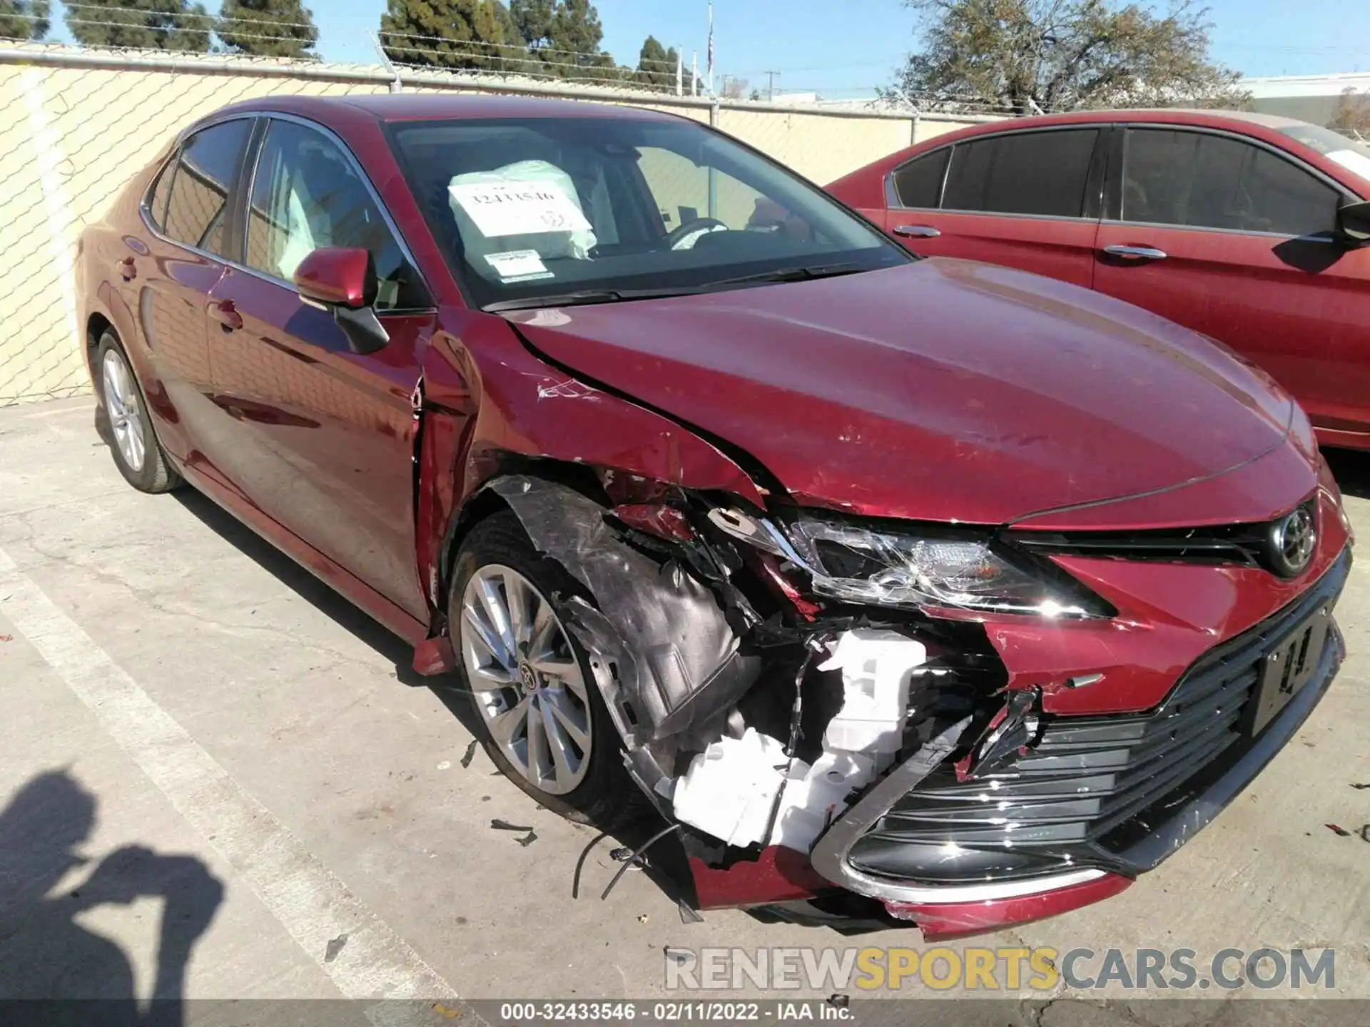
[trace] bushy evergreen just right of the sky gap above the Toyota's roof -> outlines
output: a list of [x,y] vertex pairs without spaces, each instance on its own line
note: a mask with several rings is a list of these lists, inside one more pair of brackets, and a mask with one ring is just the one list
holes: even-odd
[[[389,0],[381,15],[381,47],[400,64],[507,68],[508,11],[495,0]],[[503,11],[503,18],[501,18]]]

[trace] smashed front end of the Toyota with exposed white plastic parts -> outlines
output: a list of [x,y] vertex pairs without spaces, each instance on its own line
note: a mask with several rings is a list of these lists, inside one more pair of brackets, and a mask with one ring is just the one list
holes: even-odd
[[[1060,716],[1060,694],[1101,676],[1069,639],[1125,626],[1011,540],[608,485],[607,503],[532,477],[488,487],[585,586],[563,597],[567,626],[630,775],[680,826],[700,908],[914,920],[933,938],[1097,901],[1207,823],[1341,659],[1345,557],[1158,708]],[[1004,615],[1040,626],[1056,671],[1006,667],[991,637]],[[1254,738],[1245,668],[1319,616],[1317,685]]]

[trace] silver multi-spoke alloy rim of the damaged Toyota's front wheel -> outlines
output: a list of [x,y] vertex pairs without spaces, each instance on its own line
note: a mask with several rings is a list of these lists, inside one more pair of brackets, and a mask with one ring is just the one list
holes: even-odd
[[552,604],[518,571],[481,567],[466,585],[462,659],[490,737],[533,787],[564,796],[590,761],[589,693]]

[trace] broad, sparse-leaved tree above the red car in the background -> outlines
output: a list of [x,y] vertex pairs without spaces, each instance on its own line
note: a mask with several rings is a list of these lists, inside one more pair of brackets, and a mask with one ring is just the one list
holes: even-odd
[[888,99],[988,104],[1011,114],[1089,107],[1241,104],[1240,75],[1208,58],[1206,11],[1175,0],[904,0],[923,49]]

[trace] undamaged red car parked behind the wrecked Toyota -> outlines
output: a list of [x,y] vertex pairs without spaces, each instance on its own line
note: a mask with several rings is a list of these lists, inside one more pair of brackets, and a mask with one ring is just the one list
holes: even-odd
[[1370,147],[1289,118],[1086,111],[938,136],[827,190],[917,253],[1134,303],[1370,448]]

